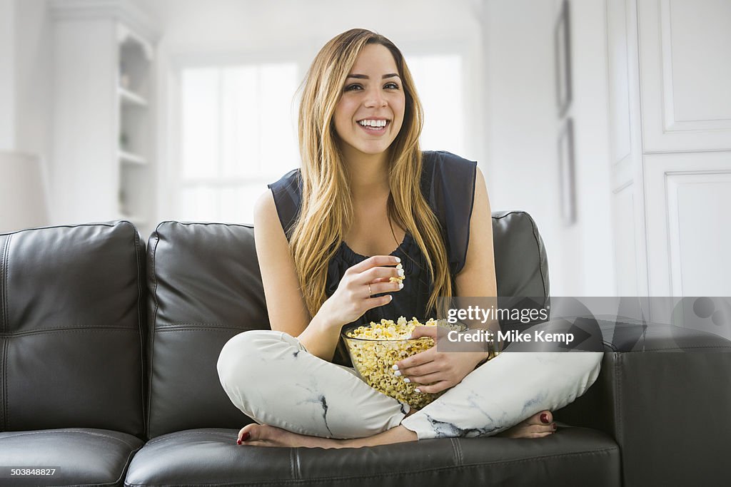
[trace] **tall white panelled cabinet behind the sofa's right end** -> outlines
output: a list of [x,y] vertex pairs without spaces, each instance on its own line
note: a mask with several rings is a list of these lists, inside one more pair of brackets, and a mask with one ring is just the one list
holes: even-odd
[[731,4],[607,0],[607,41],[618,294],[729,296]]

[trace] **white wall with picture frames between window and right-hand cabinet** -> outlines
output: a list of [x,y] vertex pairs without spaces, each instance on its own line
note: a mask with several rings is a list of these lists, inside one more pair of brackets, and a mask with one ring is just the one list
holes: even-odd
[[571,1],[577,222],[561,223],[553,26],[558,2],[488,0],[488,190],[495,210],[525,210],[548,251],[554,296],[613,296],[602,0]]

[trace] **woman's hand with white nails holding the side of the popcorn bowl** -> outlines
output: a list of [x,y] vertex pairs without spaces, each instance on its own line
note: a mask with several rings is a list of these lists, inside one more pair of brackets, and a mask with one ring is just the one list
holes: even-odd
[[[417,326],[412,338],[432,337],[438,326]],[[398,372],[421,392],[435,393],[456,386],[474,367],[488,357],[487,352],[437,352],[436,346],[398,361]],[[423,386],[429,384],[429,386]]]

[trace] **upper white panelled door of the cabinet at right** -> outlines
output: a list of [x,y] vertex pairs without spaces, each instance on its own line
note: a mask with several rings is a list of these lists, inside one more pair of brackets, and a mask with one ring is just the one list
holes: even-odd
[[731,150],[731,2],[639,0],[645,152]]

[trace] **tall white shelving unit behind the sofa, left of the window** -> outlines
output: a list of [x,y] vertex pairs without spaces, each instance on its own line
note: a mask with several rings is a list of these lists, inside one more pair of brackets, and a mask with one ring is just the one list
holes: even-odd
[[125,219],[144,236],[154,202],[154,42],[128,1],[55,0],[50,193],[54,223]]

